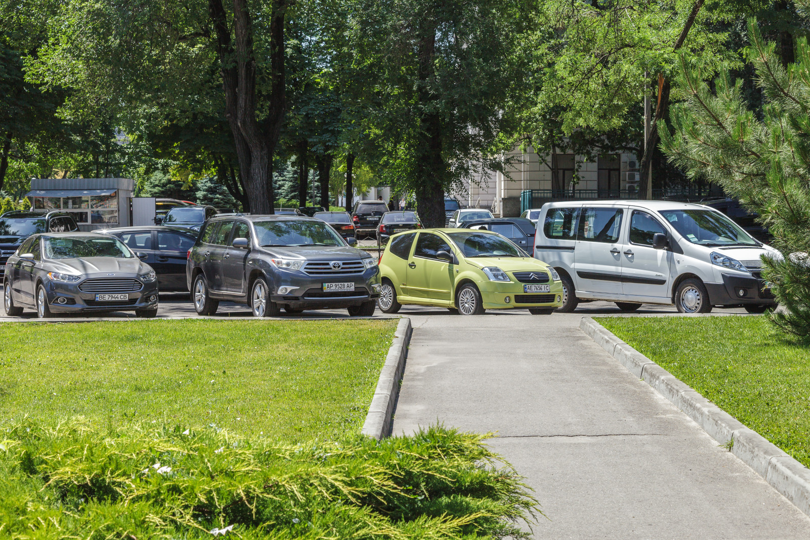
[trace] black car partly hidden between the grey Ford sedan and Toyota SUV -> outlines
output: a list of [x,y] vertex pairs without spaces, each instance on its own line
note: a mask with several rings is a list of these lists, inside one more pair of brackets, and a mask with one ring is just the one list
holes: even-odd
[[197,241],[198,232],[168,225],[120,227],[96,231],[112,235],[146,262],[157,274],[161,292],[188,291],[185,284],[185,261]]

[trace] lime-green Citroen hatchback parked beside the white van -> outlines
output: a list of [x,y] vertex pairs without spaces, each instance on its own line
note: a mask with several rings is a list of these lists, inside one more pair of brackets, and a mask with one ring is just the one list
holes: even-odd
[[385,313],[403,304],[480,315],[485,309],[552,313],[562,303],[556,271],[496,232],[423,229],[391,236],[380,259],[377,300]]

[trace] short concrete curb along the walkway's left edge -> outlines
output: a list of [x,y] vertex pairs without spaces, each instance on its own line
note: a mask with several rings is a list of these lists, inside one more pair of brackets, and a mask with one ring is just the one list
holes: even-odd
[[382,366],[377,389],[369,406],[369,413],[365,415],[363,435],[384,439],[391,434],[391,418],[394,416],[394,407],[399,396],[399,381],[405,371],[407,347],[411,342],[411,319],[403,317],[399,320],[397,330],[394,332],[394,342],[388,350],[386,363]]

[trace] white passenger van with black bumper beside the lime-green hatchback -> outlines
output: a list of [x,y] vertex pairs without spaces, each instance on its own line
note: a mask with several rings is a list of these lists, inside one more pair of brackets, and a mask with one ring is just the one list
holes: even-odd
[[535,235],[535,258],[561,276],[561,312],[608,300],[623,311],[675,304],[680,313],[762,313],[775,300],[761,255],[782,257],[718,210],[684,202],[548,202]]

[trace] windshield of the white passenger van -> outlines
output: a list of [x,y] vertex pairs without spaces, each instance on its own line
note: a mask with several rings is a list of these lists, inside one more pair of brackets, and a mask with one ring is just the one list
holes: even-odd
[[742,227],[715,210],[660,210],[659,214],[693,244],[760,245]]

